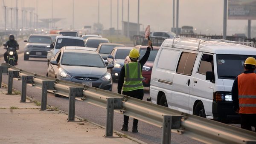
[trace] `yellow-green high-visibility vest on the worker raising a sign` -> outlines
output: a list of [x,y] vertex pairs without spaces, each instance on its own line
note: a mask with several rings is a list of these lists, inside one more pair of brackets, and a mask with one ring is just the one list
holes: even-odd
[[143,89],[143,77],[141,74],[141,65],[138,62],[131,62],[125,64],[125,82],[123,84],[123,91],[132,91],[136,89]]

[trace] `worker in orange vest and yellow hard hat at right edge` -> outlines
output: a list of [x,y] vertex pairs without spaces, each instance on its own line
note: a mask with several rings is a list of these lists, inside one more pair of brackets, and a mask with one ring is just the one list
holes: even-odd
[[233,108],[241,115],[241,128],[256,130],[256,60],[244,62],[244,72],[236,77],[232,87]]

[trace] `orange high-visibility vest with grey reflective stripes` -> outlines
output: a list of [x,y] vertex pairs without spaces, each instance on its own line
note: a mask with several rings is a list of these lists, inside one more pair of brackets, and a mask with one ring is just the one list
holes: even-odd
[[238,76],[239,113],[256,114],[256,74]]

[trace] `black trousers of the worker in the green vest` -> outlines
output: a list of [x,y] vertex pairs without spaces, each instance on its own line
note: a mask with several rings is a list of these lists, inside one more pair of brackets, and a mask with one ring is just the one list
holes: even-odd
[[[136,90],[133,90],[133,91],[122,92],[122,94],[142,100],[143,96],[144,96],[144,91],[143,91],[143,89],[136,89]],[[133,125],[137,126],[138,122],[139,122],[139,120],[134,118]],[[128,125],[128,123],[129,123],[129,117],[124,115],[124,125]]]

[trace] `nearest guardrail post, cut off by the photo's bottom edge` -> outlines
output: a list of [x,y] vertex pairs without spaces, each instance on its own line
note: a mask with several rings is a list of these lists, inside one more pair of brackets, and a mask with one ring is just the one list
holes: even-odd
[[181,118],[181,115],[163,115],[161,144],[171,144],[172,129],[180,129]]

